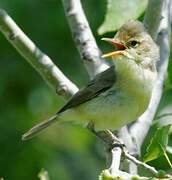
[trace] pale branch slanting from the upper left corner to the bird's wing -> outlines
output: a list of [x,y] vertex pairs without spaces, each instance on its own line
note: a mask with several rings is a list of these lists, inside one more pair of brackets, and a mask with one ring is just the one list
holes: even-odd
[[78,88],[58,69],[46,54],[36,47],[2,9],[0,9],[0,31],[59,95],[68,98],[77,92]]

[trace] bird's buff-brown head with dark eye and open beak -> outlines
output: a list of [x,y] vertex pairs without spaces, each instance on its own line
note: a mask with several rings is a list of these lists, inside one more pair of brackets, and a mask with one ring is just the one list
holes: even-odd
[[115,62],[120,59],[119,56],[126,56],[126,60],[134,61],[144,69],[156,71],[159,49],[141,22],[130,20],[118,30],[114,38],[102,40],[115,46],[115,51],[102,57],[112,57]]

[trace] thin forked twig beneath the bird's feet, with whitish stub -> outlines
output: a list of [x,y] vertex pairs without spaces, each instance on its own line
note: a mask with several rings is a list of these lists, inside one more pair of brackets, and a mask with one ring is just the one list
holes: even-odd
[[[148,164],[143,163],[137,160],[134,156],[130,155],[123,142],[119,138],[117,138],[110,130],[96,132],[91,124],[89,124],[88,129],[105,143],[107,149],[107,159],[110,159],[110,161],[108,160],[108,163],[110,163],[108,171],[112,177],[117,177],[122,174],[122,171],[120,171],[122,156],[124,156],[124,158],[126,158],[127,160],[133,162],[135,165],[142,166],[154,176],[158,175],[158,171],[154,167],[151,167]],[[124,174],[126,176],[126,172]]]

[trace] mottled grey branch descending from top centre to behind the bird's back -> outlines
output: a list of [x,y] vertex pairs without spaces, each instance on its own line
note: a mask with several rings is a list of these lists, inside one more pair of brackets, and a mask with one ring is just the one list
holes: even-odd
[[80,0],[62,0],[76,47],[83,59],[90,77],[94,77],[109,66],[101,58]]

